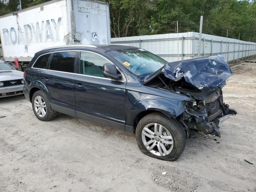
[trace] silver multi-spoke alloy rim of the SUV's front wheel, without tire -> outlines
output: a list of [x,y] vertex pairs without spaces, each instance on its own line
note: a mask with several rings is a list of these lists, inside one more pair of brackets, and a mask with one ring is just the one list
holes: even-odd
[[142,142],[154,155],[166,156],[172,152],[173,139],[170,132],[158,123],[147,124],[142,130]]

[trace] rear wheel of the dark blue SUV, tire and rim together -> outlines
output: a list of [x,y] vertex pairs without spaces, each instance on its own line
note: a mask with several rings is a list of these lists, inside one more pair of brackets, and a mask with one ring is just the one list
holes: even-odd
[[49,121],[57,116],[57,112],[52,110],[46,94],[41,90],[34,93],[32,97],[32,108],[36,117],[41,121]]

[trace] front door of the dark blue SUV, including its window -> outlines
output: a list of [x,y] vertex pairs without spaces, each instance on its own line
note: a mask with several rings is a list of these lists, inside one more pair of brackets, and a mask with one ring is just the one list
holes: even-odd
[[80,72],[75,76],[76,116],[124,129],[126,81],[111,80],[102,66],[112,63],[93,52],[80,53]]

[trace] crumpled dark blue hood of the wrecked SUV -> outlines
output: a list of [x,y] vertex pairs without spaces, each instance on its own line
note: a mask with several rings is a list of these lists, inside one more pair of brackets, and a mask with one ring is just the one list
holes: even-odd
[[170,62],[162,69],[171,80],[184,78],[202,91],[212,91],[226,85],[232,71],[221,55]]

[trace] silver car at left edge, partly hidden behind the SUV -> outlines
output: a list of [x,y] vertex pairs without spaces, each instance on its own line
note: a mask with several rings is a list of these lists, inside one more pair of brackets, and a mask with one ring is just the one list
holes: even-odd
[[0,98],[23,94],[23,72],[0,60]]

